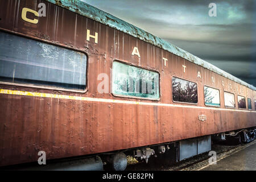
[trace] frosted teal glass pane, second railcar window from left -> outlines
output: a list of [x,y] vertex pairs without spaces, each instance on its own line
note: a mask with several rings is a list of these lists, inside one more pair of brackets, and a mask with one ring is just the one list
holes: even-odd
[[159,99],[159,73],[113,62],[112,93],[115,96]]

